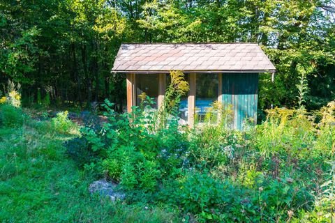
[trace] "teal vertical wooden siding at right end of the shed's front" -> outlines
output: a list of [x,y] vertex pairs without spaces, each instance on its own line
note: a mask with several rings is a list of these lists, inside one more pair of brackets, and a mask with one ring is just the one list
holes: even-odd
[[246,118],[257,121],[258,73],[223,74],[222,101],[234,111],[233,128],[241,130]]

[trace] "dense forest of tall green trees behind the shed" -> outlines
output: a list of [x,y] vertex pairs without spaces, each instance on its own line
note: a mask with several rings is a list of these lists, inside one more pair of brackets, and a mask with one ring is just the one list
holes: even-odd
[[122,106],[110,70],[121,43],[259,43],[276,66],[262,75],[260,109],[308,109],[335,97],[333,0],[27,0],[0,3],[0,83],[21,84],[23,105]]

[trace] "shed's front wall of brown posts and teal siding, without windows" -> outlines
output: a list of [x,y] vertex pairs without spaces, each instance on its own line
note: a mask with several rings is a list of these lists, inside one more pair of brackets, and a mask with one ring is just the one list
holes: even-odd
[[[165,75],[161,74],[160,80],[165,80]],[[131,112],[131,106],[136,105],[135,94],[135,74],[127,75],[127,104],[128,112]],[[220,83],[218,89],[218,100],[223,102],[223,105],[232,105],[233,109],[233,124],[232,128],[242,130],[244,122],[247,118],[252,118],[254,123],[257,121],[257,105],[258,105],[258,73],[223,73],[218,76]],[[195,80],[195,78],[193,78]],[[160,81],[161,83],[161,81]],[[196,88],[196,83],[190,83]],[[163,97],[165,88],[164,83],[159,84],[159,96]],[[191,109],[188,111],[192,119],[193,110],[195,107],[195,89],[193,94],[189,93],[188,100],[191,100]],[[193,97],[193,98],[192,98]],[[160,104],[163,98],[158,98]],[[190,102],[188,102],[190,103]],[[194,104],[194,105],[193,105]],[[158,105],[159,106],[159,105]],[[190,106],[188,106],[190,109]],[[188,117],[188,124],[193,125],[193,120]]]

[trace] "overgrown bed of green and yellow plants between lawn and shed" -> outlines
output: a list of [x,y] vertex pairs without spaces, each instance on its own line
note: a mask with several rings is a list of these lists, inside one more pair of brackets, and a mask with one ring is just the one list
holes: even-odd
[[303,106],[269,109],[262,125],[245,132],[229,129],[231,113],[216,104],[220,121],[193,130],[173,113],[157,125],[164,114],[150,105],[143,95],[131,114],[117,114],[106,100],[108,123],[81,130],[97,158],[86,167],[119,182],[128,201],[169,203],[198,222],[294,221],[327,210],[314,194],[329,168],[324,161],[334,158],[334,102],[313,115]]

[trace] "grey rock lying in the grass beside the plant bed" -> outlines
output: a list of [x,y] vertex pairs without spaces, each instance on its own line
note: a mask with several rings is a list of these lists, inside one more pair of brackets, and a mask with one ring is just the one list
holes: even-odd
[[91,194],[98,193],[101,197],[109,197],[113,202],[116,200],[123,200],[126,194],[122,192],[116,192],[116,184],[107,182],[105,179],[96,180],[89,185],[89,192]]

